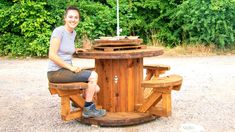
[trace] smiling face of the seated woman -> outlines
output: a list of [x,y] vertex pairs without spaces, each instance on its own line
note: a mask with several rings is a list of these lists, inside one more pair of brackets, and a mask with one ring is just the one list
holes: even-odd
[[76,10],[68,10],[65,18],[65,27],[69,32],[72,32],[74,28],[77,27],[79,23],[79,13]]

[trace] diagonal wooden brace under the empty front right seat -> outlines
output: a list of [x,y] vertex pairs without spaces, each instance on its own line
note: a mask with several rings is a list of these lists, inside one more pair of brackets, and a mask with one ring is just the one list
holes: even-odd
[[161,93],[154,92],[148,99],[143,103],[143,105],[138,109],[139,112],[146,112],[151,106],[159,102],[162,98]]

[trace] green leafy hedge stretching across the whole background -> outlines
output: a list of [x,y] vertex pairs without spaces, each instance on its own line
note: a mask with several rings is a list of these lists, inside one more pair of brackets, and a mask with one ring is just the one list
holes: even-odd
[[[235,47],[235,0],[119,1],[121,35],[166,47]],[[51,32],[63,24],[68,5],[81,11],[78,45],[116,35],[116,0],[0,0],[0,56],[47,56]]]

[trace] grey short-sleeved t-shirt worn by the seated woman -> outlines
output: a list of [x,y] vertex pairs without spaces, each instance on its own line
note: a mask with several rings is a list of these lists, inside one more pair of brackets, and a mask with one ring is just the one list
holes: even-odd
[[[64,26],[55,28],[51,35],[51,40],[52,38],[60,39],[58,56],[62,60],[71,65],[72,65],[72,55],[75,52],[75,44],[74,44],[75,37],[76,37],[76,32],[73,31],[72,33],[70,33],[65,30]],[[50,45],[52,44],[51,40],[50,40]],[[57,71],[59,69],[61,69],[60,66],[55,64],[53,61],[49,60],[47,71]]]

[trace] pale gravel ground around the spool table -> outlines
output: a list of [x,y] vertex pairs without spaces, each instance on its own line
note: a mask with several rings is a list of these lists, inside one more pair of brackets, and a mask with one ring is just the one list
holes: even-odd
[[[75,59],[79,66],[94,60]],[[172,93],[172,116],[129,127],[95,127],[60,118],[60,100],[47,86],[47,59],[0,58],[0,131],[158,131],[201,126],[208,132],[235,132],[235,56],[152,57],[145,64],[168,64],[166,74],[184,78]]]

